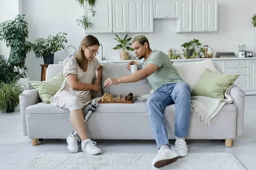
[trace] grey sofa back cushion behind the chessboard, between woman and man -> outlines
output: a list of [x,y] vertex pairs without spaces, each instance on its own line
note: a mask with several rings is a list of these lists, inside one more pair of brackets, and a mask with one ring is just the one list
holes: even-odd
[[104,88],[104,82],[109,77],[118,78],[131,74],[127,69],[127,62],[111,62],[102,64],[102,92],[103,94],[109,93],[113,96],[126,96],[130,92],[134,96],[143,96],[145,94],[150,94],[151,85],[147,82],[146,79],[143,79],[139,82],[124,83],[119,85],[111,85],[110,87]]

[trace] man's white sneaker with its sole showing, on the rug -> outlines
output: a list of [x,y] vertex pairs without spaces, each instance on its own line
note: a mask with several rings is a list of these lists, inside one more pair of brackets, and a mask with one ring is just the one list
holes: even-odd
[[172,149],[163,148],[158,150],[157,157],[152,161],[154,167],[160,168],[172,162],[175,162],[179,158],[179,155]]

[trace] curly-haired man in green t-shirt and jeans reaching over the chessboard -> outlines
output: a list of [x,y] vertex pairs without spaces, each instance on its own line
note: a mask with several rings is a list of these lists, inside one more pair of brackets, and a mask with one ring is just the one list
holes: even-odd
[[[131,65],[136,64],[142,69],[125,77],[108,78],[104,85],[111,86],[143,79],[148,80],[152,86],[151,94],[146,102],[148,119],[159,149],[152,164],[154,167],[160,168],[176,161],[180,156],[187,155],[185,137],[189,127],[191,89],[178,76],[168,55],[159,50],[152,51],[148,39],[144,35],[135,36],[131,43],[140,61],[130,61],[127,67],[130,70]],[[175,150],[170,147],[163,119],[166,106],[172,104],[175,104]]]

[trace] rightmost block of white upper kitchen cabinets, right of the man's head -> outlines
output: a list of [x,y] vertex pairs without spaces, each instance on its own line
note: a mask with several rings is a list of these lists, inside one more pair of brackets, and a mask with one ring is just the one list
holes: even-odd
[[212,0],[180,0],[177,32],[218,31],[218,3]]

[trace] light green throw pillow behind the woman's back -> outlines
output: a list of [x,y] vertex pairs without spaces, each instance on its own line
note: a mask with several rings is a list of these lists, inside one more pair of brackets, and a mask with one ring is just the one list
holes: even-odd
[[29,83],[38,91],[39,97],[44,103],[50,103],[50,98],[61,88],[63,81],[63,71],[61,71],[52,79],[42,82],[29,81]]

